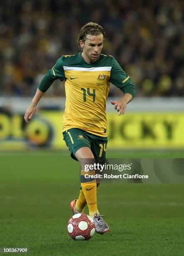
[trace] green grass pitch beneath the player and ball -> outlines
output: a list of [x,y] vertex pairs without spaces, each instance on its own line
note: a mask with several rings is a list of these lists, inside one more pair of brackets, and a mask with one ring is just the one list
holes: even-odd
[[101,184],[98,205],[110,232],[89,241],[67,234],[69,204],[79,188],[79,165],[68,152],[0,153],[0,247],[29,248],[27,255],[35,256],[184,255],[184,184]]

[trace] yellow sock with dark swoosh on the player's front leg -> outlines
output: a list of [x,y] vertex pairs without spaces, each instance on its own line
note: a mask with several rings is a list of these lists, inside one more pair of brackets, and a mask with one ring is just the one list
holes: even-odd
[[94,179],[90,182],[81,183],[82,191],[85,195],[87,206],[89,208],[89,215],[93,218],[94,214],[99,214],[97,208],[97,183]]

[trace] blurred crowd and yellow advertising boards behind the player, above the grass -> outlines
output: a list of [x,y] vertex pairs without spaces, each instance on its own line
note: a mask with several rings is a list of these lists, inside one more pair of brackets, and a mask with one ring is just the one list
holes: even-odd
[[184,147],[184,103],[177,98],[184,96],[181,1],[17,0],[2,1],[1,6],[2,148],[66,149],[60,136],[64,82],[52,84],[39,104],[42,111],[27,127],[23,115],[47,70],[60,56],[80,51],[77,33],[89,20],[104,27],[103,54],[117,59],[137,92],[119,118],[109,102],[121,97],[121,91],[111,86],[109,148]]

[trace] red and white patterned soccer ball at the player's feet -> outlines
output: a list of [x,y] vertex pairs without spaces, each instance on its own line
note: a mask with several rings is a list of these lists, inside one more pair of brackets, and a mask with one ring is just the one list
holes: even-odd
[[77,213],[68,221],[67,230],[74,240],[89,240],[95,232],[93,219],[85,213]]

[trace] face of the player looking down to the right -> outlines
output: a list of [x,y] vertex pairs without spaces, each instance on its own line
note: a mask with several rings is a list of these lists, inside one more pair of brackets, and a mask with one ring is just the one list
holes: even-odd
[[80,46],[83,49],[81,55],[87,63],[97,61],[103,48],[103,39],[103,35],[99,34],[98,36],[87,35],[84,43],[80,40]]

